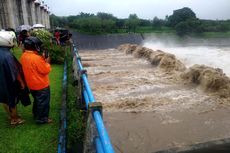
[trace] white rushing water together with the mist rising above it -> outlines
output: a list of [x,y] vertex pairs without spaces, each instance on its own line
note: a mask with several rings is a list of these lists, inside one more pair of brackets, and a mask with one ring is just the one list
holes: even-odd
[[188,67],[204,64],[221,68],[230,76],[229,38],[178,40],[173,36],[151,36],[143,44],[153,50],[159,49],[176,55]]

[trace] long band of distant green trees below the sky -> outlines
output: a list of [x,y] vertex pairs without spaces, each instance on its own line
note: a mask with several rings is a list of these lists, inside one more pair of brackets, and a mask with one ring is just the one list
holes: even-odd
[[96,15],[80,13],[76,16],[50,16],[52,27],[67,27],[90,34],[125,33],[125,32],[176,32],[178,35],[202,34],[206,32],[230,31],[230,20],[203,20],[188,7],[174,10],[165,19],[153,17],[152,20],[140,19],[130,14],[126,19],[119,19],[112,14],[99,12]]

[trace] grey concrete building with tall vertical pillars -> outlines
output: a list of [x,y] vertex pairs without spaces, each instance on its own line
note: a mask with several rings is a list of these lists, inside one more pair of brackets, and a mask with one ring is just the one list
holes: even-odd
[[0,0],[0,29],[34,24],[50,28],[49,13],[41,0]]

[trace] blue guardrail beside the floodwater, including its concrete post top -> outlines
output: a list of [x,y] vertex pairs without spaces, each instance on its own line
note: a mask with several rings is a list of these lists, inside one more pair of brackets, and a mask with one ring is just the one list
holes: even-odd
[[92,90],[90,88],[87,71],[83,68],[81,63],[81,57],[79,56],[78,50],[75,45],[73,45],[73,51],[75,56],[75,61],[77,65],[77,73],[81,79],[82,84],[82,95],[84,98],[86,109],[92,113],[93,120],[97,129],[98,137],[94,138],[94,143],[96,145],[97,153],[114,153],[113,146],[111,144],[108,132],[104,126],[102,119],[102,110],[100,103],[95,101]]

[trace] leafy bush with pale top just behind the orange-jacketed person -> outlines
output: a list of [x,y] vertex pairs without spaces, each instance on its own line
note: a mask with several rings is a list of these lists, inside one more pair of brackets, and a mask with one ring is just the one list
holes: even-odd
[[31,32],[31,36],[39,38],[43,45],[42,48],[47,50],[51,57],[51,62],[54,64],[63,64],[65,50],[56,44],[52,44],[52,34],[46,30],[34,30]]

